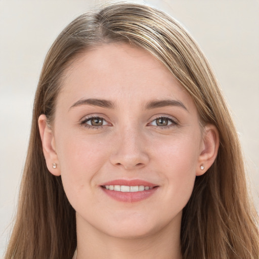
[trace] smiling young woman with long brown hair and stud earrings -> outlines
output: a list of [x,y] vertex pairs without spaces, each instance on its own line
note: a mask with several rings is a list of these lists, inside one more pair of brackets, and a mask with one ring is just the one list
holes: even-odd
[[257,222],[191,36],[135,4],[70,23],[42,68],[5,258],[255,259]]

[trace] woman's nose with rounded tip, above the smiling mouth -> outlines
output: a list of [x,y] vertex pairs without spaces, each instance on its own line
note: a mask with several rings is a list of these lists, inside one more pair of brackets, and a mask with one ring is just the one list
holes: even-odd
[[125,130],[118,134],[110,161],[126,170],[140,169],[149,162],[147,145],[138,130]]

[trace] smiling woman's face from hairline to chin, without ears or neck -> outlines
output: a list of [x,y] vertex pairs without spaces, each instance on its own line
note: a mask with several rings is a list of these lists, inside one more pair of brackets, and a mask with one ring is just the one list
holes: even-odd
[[204,147],[192,98],[127,44],[96,47],[66,71],[51,145],[77,227],[116,237],[179,228]]

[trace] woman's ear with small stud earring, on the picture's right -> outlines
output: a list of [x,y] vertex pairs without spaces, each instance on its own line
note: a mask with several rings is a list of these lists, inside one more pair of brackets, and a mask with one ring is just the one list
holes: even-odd
[[217,127],[207,124],[204,127],[201,149],[196,168],[196,176],[201,176],[215,161],[220,146]]

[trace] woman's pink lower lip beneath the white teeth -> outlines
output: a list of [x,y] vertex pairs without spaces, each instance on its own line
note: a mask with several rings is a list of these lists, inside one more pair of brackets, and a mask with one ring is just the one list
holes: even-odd
[[153,189],[149,189],[147,191],[141,191],[141,192],[117,192],[117,191],[107,190],[106,188],[103,188],[103,187],[101,188],[107,195],[109,195],[114,200],[121,201],[121,202],[138,202],[149,198],[152,194],[156,192],[158,187],[154,187]]

